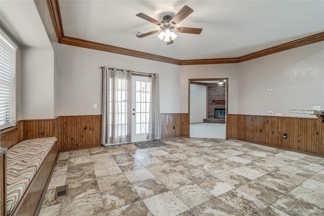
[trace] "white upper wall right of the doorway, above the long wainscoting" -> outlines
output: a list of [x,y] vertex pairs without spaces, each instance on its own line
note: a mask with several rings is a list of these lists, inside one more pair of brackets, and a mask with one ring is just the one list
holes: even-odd
[[315,117],[289,110],[324,109],[324,42],[242,62],[238,70],[239,114]]

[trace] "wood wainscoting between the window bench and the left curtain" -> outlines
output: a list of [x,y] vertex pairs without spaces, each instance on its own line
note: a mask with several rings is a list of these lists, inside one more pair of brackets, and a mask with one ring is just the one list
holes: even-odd
[[100,146],[101,115],[59,117],[60,151]]

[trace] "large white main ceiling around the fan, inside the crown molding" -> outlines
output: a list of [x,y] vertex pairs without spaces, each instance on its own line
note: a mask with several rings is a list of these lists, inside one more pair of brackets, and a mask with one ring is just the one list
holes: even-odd
[[[178,33],[172,45],[157,34],[156,20],[184,5],[193,13],[179,26],[203,28],[200,35]],[[210,59],[247,55],[324,30],[324,1],[67,1],[60,0],[64,35],[170,58]]]

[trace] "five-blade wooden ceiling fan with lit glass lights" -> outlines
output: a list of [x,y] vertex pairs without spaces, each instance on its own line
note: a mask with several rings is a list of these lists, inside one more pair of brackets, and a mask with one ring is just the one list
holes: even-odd
[[172,17],[171,15],[163,16],[163,20],[161,22],[143,13],[136,14],[136,16],[144,20],[147,20],[151,23],[154,23],[160,27],[160,30],[154,30],[147,33],[139,34],[137,35],[137,37],[140,38],[146,37],[148,35],[160,32],[157,35],[157,37],[161,40],[164,40],[165,44],[170,45],[173,44],[173,40],[177,37],[175,32],[188,33],[188,34],[200,34],[201,30],[203,30],[202,28],[189,28],[189,27],[177,26],[182,20],[184,20],[192,12],[193,10],[185,5],[174,17]]

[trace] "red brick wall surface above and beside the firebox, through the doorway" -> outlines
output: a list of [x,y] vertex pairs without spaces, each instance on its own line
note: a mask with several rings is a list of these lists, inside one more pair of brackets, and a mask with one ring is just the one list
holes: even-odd
[[207,92],[208,118],[215,118],[215,109],[226,109],[226,104],[215,103],[213,100],[226,100],[226,86],[225,85],[209,86],[207,91],[208,91]]

